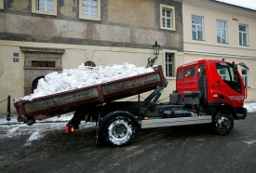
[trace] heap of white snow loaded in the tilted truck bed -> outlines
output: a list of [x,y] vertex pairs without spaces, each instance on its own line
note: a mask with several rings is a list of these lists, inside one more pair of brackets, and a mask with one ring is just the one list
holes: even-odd
[[88,67],[81,64],[78,69],[64,69],[62,73],[48,73],[45,79],[42,78],[38,81],[34,94],[20,98],[20,100],[33,100],[34,98],[107,83],[153,71],[153,68],[136,67],[134,64],[128,64],[128,62],[125,62],[123,65],[113,64],[97,67]]

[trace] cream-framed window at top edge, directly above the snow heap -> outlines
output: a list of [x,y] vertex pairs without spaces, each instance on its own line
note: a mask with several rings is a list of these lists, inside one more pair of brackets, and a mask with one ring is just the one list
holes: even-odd
[[79,18],[101,20],[101,0],[79,0]]

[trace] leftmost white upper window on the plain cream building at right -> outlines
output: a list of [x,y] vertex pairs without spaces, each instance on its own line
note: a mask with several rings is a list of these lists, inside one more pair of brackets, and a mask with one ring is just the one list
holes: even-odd
[[192,16],[192,38],[193,40],[204,40],[204,19]]

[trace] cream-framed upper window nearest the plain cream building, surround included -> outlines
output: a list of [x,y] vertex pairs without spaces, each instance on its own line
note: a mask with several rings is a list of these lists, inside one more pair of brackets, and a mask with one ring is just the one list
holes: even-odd
[[175,31],[175,8],[160,5],[160,28]]

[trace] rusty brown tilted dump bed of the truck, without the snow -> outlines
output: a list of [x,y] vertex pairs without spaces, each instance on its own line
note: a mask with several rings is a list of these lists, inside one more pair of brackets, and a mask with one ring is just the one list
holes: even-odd
[[52,94],[34,100],[20,100],[14,103],[19,117],[31,118],[38,114],[54,116],[69,113],[85,104],[99,104],[107,101],[127,98],[166,86],[161,66],[152,73],[143,73],[128,78],[90,87],[82,87],[58,94]]

